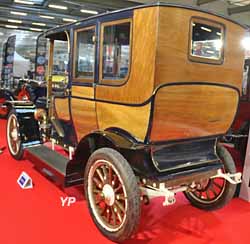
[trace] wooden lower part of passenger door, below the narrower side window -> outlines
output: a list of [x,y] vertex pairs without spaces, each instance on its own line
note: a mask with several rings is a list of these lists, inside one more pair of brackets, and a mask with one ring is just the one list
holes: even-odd
[[[72,96],[94,98],[93,87],[73,86]],[[95,101],[71,99],[72,117],[78,141],[98,128]]]

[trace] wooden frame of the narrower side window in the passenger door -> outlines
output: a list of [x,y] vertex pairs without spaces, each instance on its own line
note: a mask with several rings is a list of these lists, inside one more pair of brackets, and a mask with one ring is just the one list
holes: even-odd
[[80,29],[76,29],[74,30],[74,53],[73,53],[73,78],[72,78],[72,81],[73,82],[82,82],[82,83],[94,83],[95,81],[95,65],[96,65],[96,43],[97,43],[97,40],[94,41],[94,72],[93,72],[93,77],[92,78],[83,78],[83,77],[76,77],[76,60],[77,60],[77,41],[78,41],[78,38],[77,38],[77,35],[79,32],[83,32],[83,31],[88,31],[88,30],[91,30],[93,29],[94,32],[95,32],[95,39],[97,38],[97,33],[96,33],[96,25],[91,25],[91,26],[88,26],[88,27],[83,27],[83,28],[80,28]]

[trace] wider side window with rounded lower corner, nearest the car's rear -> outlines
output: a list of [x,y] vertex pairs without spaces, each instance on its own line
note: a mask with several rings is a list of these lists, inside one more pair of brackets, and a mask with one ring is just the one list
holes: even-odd
[[101,38],[101,83],[122,84],[129,74],[131,22],[103,24]]

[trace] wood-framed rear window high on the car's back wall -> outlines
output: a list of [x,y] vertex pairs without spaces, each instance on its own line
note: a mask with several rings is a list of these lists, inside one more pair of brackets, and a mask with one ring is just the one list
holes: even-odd
[[218,23],[193,18],[191,21],[190,59],[221,64],[224,50],[224,28]]

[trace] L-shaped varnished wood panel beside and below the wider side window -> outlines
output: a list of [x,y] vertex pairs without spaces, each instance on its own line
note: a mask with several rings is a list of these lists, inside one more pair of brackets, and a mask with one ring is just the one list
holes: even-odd
[[137,9],[132,21],[130,74],[122,86],[98,85],[96,97],[111,101],[142,103],[154,86],[158,8]]

